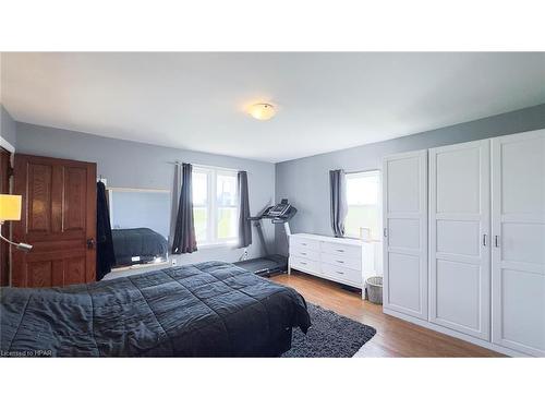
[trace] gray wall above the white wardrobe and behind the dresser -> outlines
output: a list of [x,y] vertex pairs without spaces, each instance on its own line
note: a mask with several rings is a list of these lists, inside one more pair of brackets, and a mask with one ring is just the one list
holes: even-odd
[[[385,142],[283,161],[276,166],[276,199],[278,202],[287,197],[299,209],[290,222],[292,232],[331,236],[330,169],[349,172],[379,169],[385,155],[544,128],[545,104]],[[281,229],[276,230],[276,244],[278,252],[287,253],[287,241]]]

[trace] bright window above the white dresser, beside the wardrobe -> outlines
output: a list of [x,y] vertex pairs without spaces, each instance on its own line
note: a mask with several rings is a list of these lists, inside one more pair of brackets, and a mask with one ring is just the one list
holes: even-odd
[[370,229],[371,239],[380,240],[379,183],[378,170],[347,175],[347,237],[365,238],[364,229]]

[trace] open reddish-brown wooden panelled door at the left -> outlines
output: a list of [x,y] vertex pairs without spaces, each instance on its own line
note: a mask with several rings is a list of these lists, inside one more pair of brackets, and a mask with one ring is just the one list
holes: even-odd
[[96,164],[15,155],[14,193],[23,196],[12,285],[66,286],[96,277]]

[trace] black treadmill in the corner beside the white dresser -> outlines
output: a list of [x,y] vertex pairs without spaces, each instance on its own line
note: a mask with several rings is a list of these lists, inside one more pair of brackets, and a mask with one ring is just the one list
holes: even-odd
[[262,214],[255,217],[249,217],[249,220],[254,221],[265,255],[263,257],[243,260],[233,264],[258,276],[270,276],[275,273],[287,272],[288,257],[280,254],[270,254],[267,250],[267,243],[263,236],[262,220],[268,219],[272,225],[283,225],[286,236],[289,238],[291,234],[289,220],[295,216],[295,213],[298,213],[298,209],[290,205],[287,199],[282,199],[281,203],[267,207]]

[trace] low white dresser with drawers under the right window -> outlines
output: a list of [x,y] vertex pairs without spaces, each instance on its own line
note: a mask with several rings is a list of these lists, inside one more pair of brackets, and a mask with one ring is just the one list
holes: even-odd
[[288,274],[294,268],[363,288],[365,279],[375,275],[374,245],[374,242],[354,239],[306,233],[291,234]]

